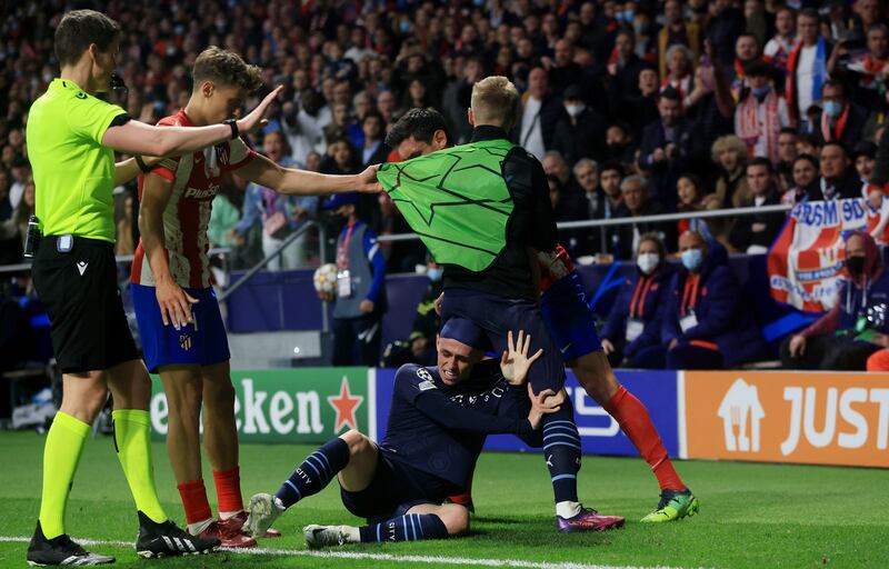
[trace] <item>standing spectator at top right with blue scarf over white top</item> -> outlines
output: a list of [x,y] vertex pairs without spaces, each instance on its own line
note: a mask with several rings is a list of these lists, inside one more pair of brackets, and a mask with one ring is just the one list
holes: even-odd
[[819,22],[813,8],[805,8],[797,14],[800,42],[787,58],[787,106],[790,117],[800,126],[809,120],[809,107],[821,102],[821,86],[827,80],[830,46],[819,33]]

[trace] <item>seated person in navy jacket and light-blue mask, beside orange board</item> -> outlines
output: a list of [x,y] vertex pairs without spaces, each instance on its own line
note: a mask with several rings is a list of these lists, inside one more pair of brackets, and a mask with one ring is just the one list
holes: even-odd
[[661,320],[661,352],[648,353],[655,368],[721,369],[761,356],[762,339],[728,268],[726,250],[700,233],[679,238],[682,268],[673,276]]

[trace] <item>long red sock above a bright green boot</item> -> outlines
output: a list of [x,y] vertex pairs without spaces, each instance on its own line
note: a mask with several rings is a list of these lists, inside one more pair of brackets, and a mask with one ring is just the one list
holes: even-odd
[[651,422],[651,416],[642,402],[621,386],[615,397],[605,406],[608,415],[615,418],[620,428],[632,441],[639,453],[649,463],[661,490],[685,490],[686,485],[676,472],[660,435]]

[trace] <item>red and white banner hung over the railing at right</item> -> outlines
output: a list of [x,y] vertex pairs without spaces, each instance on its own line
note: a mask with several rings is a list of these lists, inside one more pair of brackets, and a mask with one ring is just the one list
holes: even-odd
[[889,199],[871,208],[863,198],[798,203],[769,251],[771,296],[807,312],[830,310],[845,258],[845,238],[863,230],[887,242]]

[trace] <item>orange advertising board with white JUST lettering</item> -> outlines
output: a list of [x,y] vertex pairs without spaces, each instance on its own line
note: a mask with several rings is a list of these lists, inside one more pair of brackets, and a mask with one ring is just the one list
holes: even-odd
[[889,373],[680,372],[683,458],[889,467]]

